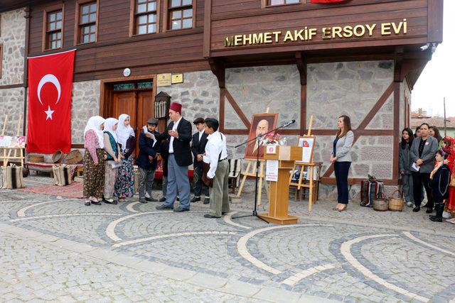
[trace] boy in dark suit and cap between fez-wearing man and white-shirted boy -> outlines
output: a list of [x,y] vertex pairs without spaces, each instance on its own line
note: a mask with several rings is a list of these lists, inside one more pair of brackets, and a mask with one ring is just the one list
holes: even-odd
[[209,204],[210,197],[208,195],[208,187],[206,187],[202,182],[202,160],[203,154],[205,153],[205,145],[207,144],[208,134],[205,133],[205,123],[203,118],[196,118],[193,121],[193,124],[196,125],[196,129],[198,131],[193,134],[193,141],[191,141],[191,151],[194,156],[194,197],[191,199],[191,202],[194,203],[200,201],[200,194],[202,193],[202,189],[204,189],[204,204]]

